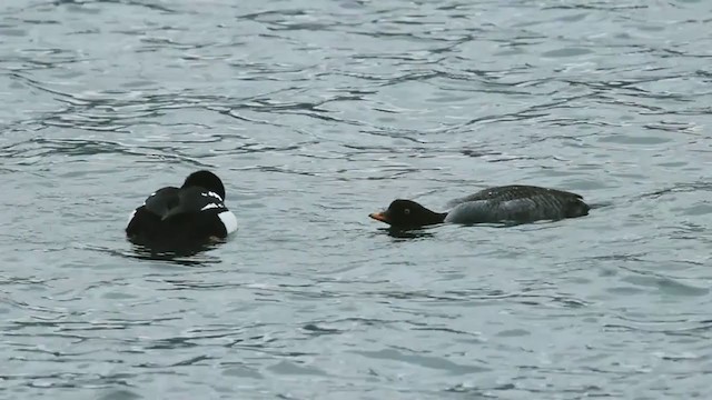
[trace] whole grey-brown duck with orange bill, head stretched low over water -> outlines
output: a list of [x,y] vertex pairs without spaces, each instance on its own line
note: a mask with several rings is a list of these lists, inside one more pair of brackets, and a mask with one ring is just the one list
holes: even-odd
[[413,200],[396,199],[385,211],[368,217],[395,228],[421,228],[438,223],[527,223],[589,214],[581,194],[525,184],[492,187],[448,202],[436,212]]

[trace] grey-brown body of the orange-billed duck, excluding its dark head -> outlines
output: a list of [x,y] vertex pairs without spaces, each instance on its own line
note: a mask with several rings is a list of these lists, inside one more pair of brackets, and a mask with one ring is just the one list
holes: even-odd
[[481,190],[453,200],[447,222],[532,222],[589,214],[590,207],[580,194],[524,184]]

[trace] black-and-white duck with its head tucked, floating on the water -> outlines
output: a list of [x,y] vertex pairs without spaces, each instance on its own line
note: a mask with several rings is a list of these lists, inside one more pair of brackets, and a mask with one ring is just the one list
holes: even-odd
[[237,230],[237,218],[225,206],[218,176],[200,170],[180,188],[151,193],[129,216],[126,236],[136,244],[180,249],[219,241]]

